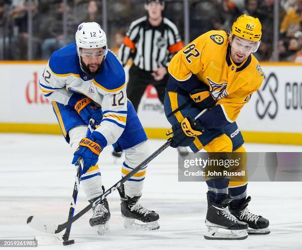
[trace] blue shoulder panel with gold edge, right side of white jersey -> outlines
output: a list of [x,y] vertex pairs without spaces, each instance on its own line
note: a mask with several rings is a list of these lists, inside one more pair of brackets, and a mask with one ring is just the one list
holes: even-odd
[[106,92],[116,92],[125,86],[125,71],[118,59],[108,51],[102,71],[92,79],[94,85]]

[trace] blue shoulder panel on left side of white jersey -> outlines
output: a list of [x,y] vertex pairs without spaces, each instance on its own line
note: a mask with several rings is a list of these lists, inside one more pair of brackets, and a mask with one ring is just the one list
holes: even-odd
[[75,60],[78,60],[76,43],[72,43],[52,53],[48,64],[51,71],[55,74],[78,74]]

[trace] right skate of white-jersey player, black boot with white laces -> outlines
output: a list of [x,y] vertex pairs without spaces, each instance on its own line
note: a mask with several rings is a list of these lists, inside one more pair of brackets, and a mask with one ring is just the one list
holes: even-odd
[[[129,196],[125,195],[123,185],[118,188],[118,192],[121,201],[121,214],[122,217],[125,218],[125,228],[136,230],[156,230],[159,228],[159,224],[157,222],[159,219],[158,214],[142,207],[138,203],[141,195],[130,198]],[[135,220],[139,220],[141,223],[137,223]]]

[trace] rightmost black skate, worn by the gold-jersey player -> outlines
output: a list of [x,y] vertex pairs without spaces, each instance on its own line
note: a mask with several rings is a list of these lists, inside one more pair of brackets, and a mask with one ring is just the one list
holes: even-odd
[[252,214],[247,206],[251,201],[251,196],[247,197],[246,200],[242,203],[240,208],[232,209],[229,207],[230,213],[235,216],[240,221],[248,223],[249,228],[247,232],[249,234],[269,234],[270,230],[268,228],[269,221],[260,215]]

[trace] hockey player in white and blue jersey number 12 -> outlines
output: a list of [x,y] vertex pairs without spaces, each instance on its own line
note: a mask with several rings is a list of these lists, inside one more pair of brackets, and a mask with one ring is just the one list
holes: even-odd
[[[97,162],[106,146],[113,144],[124,151],[122,177],[149,156],[146,133],[126,97],[124,69],[108,50],[106,34],[99,24],[78,26],[76,43],[51,55],[39,85],[52,101],[64,137],[75,152],[72,163],[83,158],[80,183],[89,202],[94,202],[104,192]],[[99,126],[85,137],[90,118]],[[119,188],[121,213],[125,227],[154,230],[159,228],[158,214],[138,203],[145,173],[146,167]],[[109,231],[109,219],[105,198],[93,206],[89,222],[103,234]],[[143,223],[138,225],[135,219]]]

